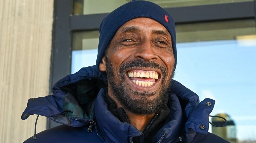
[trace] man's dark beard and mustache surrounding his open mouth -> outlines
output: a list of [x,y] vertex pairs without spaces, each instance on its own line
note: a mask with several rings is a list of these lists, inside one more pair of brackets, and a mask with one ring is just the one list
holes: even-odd
[[[126,69],[135,67],[161,70],[162,86],[155,91],[138,91],[134,89],[127,89],[128,87],[125,85],[125,71]],[[170,79],[167,79],[167,69],[162,65],[159,65],[154,61],[148,62],[143,59],[136,59],[131,62],[125,62],[120,66],[119,69],[119,81],[115,81],[113,76],[114,67],[106,57],[106,73],[113,96],[120,102],[123,108],[129,110],[130,112],[138,115],[150,115],[159,111],[164,105],[167,105],[168,91],[170,90],[172,84],[172,75],[170,76]],[[131,98],[126,90],[131,90],[136,98]],[[149,99],[150,96],[153,96],[157,93],[159,95],[157,95],[156,98]]]

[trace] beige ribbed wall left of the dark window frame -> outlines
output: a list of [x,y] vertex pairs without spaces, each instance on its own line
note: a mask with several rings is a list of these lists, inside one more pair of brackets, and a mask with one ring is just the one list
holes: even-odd
[[[22,121],[31,97],[49,93],[54,0],[0,1],[0,142],[33,136],[36,115]],[[37,132],[46,129],[40,116]]]

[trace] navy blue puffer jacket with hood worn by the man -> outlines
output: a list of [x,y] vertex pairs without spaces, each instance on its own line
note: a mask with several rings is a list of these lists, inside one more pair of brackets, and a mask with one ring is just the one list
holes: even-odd
[[[25,143],[132,143],[133,137],[143,143],[142,132],[120,122],[108,110],[106,87],[106,77],[92,66],[61,79],[54,85],[53,95],[29,99],[22,120],[37,114],[63,125],[42,131],[37,140],[31,137]],[[209,98],[199,103],[194,92],[173,80],[168,102],[171,112],[152,142],[227,143],[208,133],[208,116],[214,103]]]

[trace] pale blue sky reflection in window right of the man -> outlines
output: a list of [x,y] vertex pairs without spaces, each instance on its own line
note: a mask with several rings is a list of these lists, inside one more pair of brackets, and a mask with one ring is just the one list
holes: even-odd
[[[256,142],[256,110],[252,108],[256,107],[255,47],[256,38],[177,44],[174,79],[197,93],[200,100],[214,99],[210,115],[228,114],[239,142]],[[217,129],[231,129],[226,127]],[[215,129],[210,126],[209,131],[216,133]]]

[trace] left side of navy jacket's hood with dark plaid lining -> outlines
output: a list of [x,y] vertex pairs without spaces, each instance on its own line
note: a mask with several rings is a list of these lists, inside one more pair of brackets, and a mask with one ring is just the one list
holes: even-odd
[[59,80],[53,95],[30,98],[21,119],[37,114],[64,125],[86,125],[94,117],[94,101],[98,91],[107,87],[106,81],[96,66],[81,68]]

